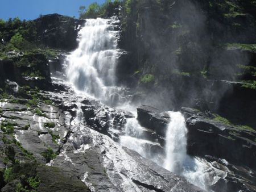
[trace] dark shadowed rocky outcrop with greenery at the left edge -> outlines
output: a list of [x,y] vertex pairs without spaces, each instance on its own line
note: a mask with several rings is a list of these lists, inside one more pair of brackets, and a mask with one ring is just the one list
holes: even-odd
[[1,78],[19,85],[49,89],[51,77],[46,56],[42,53],[10,52],[8,59],[0,60]]

